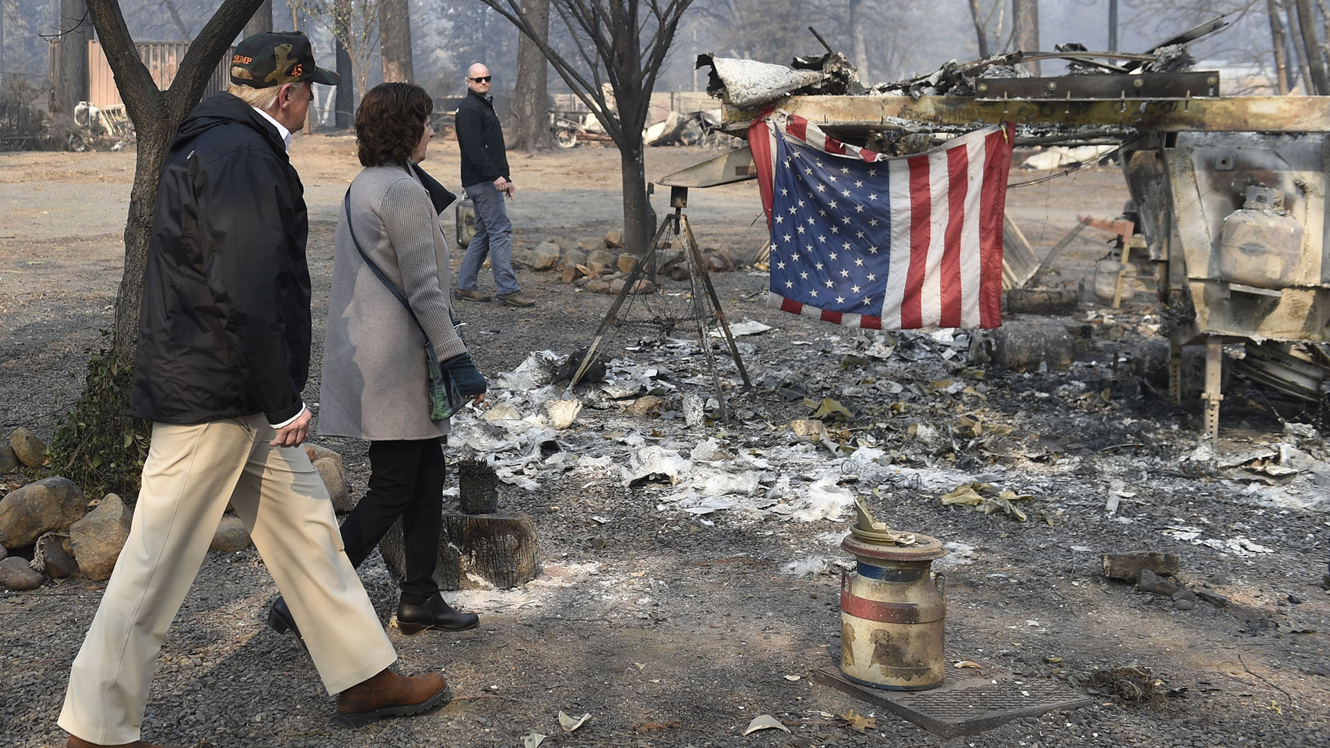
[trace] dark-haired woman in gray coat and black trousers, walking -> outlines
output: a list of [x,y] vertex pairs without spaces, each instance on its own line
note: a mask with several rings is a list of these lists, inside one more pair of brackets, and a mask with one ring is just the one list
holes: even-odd
[[[423,88],[386,83],[364,96],[355,114],[364,169],[351,182],[348,206],[338,218],[319,397],[321,434],[370,441],[368,491],[342,523],[351,563],[359,567],[402,518],[406,572],[398,627],[403,634],[463,631],[479,620],[450,607],[434,580],[448,421],[430,419],[426,342],[434,343],[458,394],[483,402],[485,381],[448,307],[448,245],[439,202],[452,196],[415,165],[434,136],[432,108]],[[443,201],[439,192],[447,196]],[[406,297],[410,311],[362,252]],[[269,624],[295,631],[281,598]]]

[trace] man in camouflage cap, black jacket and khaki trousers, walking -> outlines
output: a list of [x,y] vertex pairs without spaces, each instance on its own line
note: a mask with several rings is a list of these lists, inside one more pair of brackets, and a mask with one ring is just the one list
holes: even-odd
[[303,449],[310,359],[303,188],[286,156],[313,83],[305,35],[245,39],[227,93],[181,124],[148,245],[130,414],[153,422],[129,539],[74,659],[60,715],[69,747],[140,740],[153,663],[227,503],[299,620],[336,720],[360,725],[446,703],[443,676],[400,676],[342,551]]

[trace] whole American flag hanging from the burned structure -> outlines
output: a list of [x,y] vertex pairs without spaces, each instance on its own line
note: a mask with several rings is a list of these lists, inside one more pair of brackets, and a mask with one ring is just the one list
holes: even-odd
[[755,120],[769,305],[853,327],[1000,326],[1012,134],[995,125],[883,158],[803,117]]

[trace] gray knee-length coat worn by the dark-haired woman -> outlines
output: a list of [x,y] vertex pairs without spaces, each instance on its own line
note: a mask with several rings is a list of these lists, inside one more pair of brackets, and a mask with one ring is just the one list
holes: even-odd
[[[351,182],[360,248],[407,297],[439,361],[467,353],[448,313],[448,244],[424,185],[400,165],[368,166]],[[370,441],[434,439],[426,338],[351,242],[339,210],[323,343],[319,434]]]

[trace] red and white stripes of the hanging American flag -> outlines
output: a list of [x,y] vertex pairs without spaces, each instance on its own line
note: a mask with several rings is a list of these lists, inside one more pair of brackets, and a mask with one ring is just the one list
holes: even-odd
[[891,264],[880,317],[823,311],[773,293],[774,306],[874,329],[1001,325],[1001,230],[1015,132],[1011,122],[966,133],[918,156],[884,158],[829,137],[803,117],[769,113],[749,128],[769,226],[778,132],[829,156],[880,161],[890,170],[890,236],[879,229],[874,240],[890,241]]

